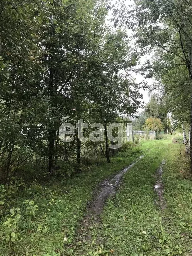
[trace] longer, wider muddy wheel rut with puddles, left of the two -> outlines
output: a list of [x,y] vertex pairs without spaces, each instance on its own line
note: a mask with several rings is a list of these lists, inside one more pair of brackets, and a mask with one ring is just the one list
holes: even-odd
[[[138,160],[143,158],[144,156],[140,156]],[[132,163],[131,165],[125,167],[122,171],[120,171],[117,175],[115,175],[112,179],[106,179],[100,185],[100,192],[96,194],[95,198],[93,199],[92,203],[88,207],[88,214],[81,222],[81,230],[79,232],[86,232],[86,230],[91,226],[95,225],[99,222],[99,215],[102,213],[103,207],[105,205],[106,199],[113,195],[117,189],[117,186],[120,183],[121,178],[123,175],[136,163]]]

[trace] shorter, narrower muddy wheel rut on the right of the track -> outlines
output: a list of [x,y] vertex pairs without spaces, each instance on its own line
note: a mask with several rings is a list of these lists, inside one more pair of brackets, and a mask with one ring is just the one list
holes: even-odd
[[162,183],[162,174],[163,174],[163,166],[165,164],[165,161],[163,160],[159,169],[156,172],[156,183],[154,186],[154,190],[158,195],[158,200],[155,201],[156,205],[158,207],[160,207],[161,210],[164,210],[166,208],[166,203],[163,197],[163,192],[164,192],[164,188],[163,188],[163,183]]

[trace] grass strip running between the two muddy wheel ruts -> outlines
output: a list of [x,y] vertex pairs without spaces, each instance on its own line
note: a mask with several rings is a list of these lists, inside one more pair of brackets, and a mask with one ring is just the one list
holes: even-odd
[[[168,143],[170,141],[144,143],[154,147],[124,175],[115,198],[108,200],[102,223],[92,230],[94,244],[79,246],[80,252],[86,252],[82,255],[94,255],[99,250],[100,255],[110,252],[114,255],[162,255],[162,251],[158,253],[162,248],[159,239],[164,239],[165,232],[154,205],[153,185],[155,171],[163,160]],[[151,239],[153,236],[155,238]],[[155,254],[151,254],[151,250],[155,250]],[[79,251],[77,249],[74,255],[80,255]]]

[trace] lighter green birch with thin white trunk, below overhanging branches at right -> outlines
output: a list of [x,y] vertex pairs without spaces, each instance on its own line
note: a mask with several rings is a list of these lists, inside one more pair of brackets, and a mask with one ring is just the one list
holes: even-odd
[[[161,68],[162,67],[162,68]],[[185,127],[190,126],[190,78],[185,65],[179,64],[178,57],[172,57],[160,52],[154,63],[154,74],[163,90],[163,98],[172,114],[175,127],[183,129],[186,153],[189,146],[186,139]],[[183,90],[183,86],[185,90]],[[190,137],[190,136],[189,136]]]

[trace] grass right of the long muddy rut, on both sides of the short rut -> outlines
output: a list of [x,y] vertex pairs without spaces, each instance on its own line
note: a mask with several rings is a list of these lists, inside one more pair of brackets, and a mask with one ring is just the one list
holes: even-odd
[[[192,255],[192,183],[181,176],[187,159],[180,145],[154,141],[155,147],[124,175],[123,184],[91,227],[92,239],[78,245],[71,255]],[[155,200],[155,172],[162,160],[164,197],[161,211]]]

